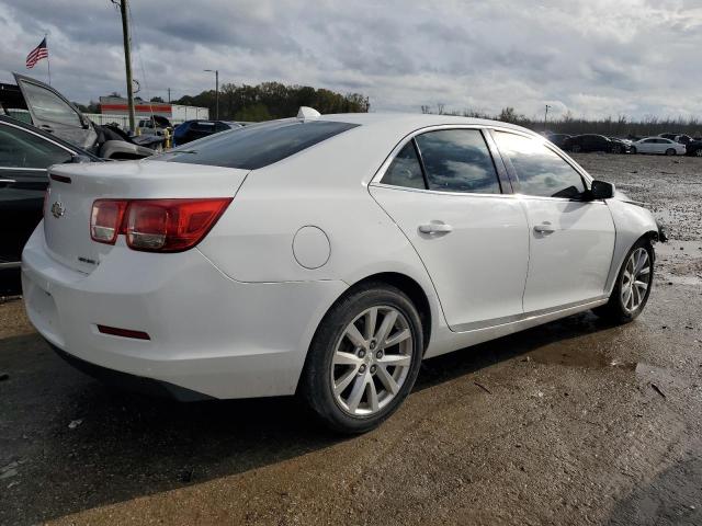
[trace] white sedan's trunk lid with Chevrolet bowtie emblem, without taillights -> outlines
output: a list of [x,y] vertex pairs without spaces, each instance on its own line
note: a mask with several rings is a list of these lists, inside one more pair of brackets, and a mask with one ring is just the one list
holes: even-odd
[[90,238],[90,214],[95,199],[231,197],[247,173],[231,168],[150,160],[56,164],[49,169],[50,176],[57,178],[50,179],[44,213],[46,248],[58,262],[90,274],[112,250],[126,247],[124,236],[120,236],[115,245]]

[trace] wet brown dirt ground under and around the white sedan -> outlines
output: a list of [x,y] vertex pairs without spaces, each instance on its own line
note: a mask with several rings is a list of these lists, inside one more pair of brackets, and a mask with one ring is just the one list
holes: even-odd
[[428,361],[360,437],[113,391],[0,305],[0,524],[702,524],[702,160],[578,161],[668,225],[646,311]]

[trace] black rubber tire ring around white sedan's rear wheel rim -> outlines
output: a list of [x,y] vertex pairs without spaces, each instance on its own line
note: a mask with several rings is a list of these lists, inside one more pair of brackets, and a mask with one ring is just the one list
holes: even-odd
[[[331,362],[336,344],[349,323],[364,310],[376,306],[393,307],[407,319],[412,333],[412,363],[399,392],[385,408],[373,415],[354,416],[341,409],[333,396]],[[331,428],[350,434],[364,433],[380,425],[407,398],[417,379],[422,354],[422,324],[410,299],[389,285],[365,287],[338,301],[319,323],[303,373],[303,393],[313,410]]]

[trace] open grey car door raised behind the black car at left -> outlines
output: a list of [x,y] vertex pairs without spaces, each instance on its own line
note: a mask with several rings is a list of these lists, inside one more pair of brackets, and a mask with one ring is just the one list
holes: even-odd
[[34,126],[86,150],[93,148],[98,134],[76,106],[44,82],[16,73],[14,78]]

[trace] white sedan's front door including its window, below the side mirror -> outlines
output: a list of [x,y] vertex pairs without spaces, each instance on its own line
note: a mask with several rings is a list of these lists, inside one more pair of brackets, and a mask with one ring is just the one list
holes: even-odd
[[602,298],[614,251],[603,201],[582,201],[582,175],[543,140],[494,132],[529,221],[524,313]]

